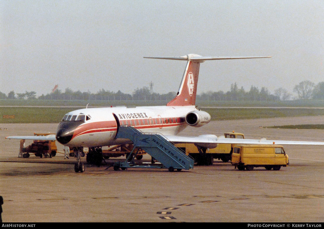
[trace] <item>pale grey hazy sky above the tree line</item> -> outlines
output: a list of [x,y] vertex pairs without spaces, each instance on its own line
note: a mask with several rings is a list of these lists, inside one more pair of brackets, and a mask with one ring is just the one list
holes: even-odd
[[177,91],[185,61],[144,56],[273,56],[201,64],[198,93],[237,82],[292,92],[324,81],[324,1],[0,1],[0,91]]

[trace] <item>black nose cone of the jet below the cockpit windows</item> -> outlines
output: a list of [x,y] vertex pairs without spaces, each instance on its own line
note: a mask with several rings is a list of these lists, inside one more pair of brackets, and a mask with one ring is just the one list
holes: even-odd
[[61,143],[61,144],[66,144],[69,141],[71,141],[75,128],[80,125],[79,122],[69,122],[69,121],[65,121],[65,122],[61,122],[56,130],[56,140]]

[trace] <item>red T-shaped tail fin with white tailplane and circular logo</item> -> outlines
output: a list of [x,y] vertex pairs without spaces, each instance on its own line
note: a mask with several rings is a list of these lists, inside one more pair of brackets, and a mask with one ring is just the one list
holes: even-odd
[[197,83],[200,63],[205,60],[235,60],[269,57],[203,57],[197,54],[188,54],[182,57],[144,57],[151,59],[165,60],[187,60],[186,69],[183,73],[178,93],[174,99],[168,102],[167,106],[193,106],[196,103]]

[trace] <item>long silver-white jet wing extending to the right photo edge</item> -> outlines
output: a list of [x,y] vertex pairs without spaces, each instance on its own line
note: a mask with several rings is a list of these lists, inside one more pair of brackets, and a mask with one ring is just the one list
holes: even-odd
[[277,145],[324,145],[324,142],[309,142],[309,141],[284,141],[284,140],[267,140],[261,139],[239,139],[239,138],[225,138],[217,137],[215,135],[202,135],[198,137],[190,136],[164,136],[173,143],[194,143],[196,145],[214,148],[219,143],[228,144],[277,144]]

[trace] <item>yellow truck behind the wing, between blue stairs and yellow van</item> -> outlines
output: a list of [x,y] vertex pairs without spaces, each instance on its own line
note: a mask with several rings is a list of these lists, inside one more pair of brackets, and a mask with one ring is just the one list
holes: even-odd
[[[224,133],[225,138],[240,138],[244,139],[244,134],[229,132]],[[195,162],[200,165],[212,165],[214,158],[228,162],[231,159],[232,149],[235,144],[218,144],[216,148],[213,149],[201,149],[199,150],[193,143],[179,143],[175,144],[176,147],[180,148],[187,155],[190,155]]]

